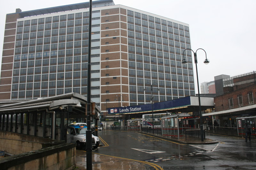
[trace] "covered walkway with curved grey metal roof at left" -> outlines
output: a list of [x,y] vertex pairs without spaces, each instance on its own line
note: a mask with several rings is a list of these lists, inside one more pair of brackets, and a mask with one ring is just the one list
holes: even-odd
[[[86,118],[87,98],[67,93],[34,100],[0,102],[0,129],[27,135],[66,140],[72,119]],[[100,108],[95,106],[95,114]]]

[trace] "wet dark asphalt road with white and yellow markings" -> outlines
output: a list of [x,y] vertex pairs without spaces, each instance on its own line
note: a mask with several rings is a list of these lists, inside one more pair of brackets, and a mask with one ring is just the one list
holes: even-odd
[[101,161],[100,155],[102,159],[115,158],[113,164],[117,158],[128,161],[129,167],[116,169],[256,169],[255,139],[246,143],[241,137],[206,133],[206,138],[219,143],[179,144],[137,132],[113,130],[102,130],[99,137],[103,145],[93,151],[93,157],[98,157],[94,164],[95,160]]

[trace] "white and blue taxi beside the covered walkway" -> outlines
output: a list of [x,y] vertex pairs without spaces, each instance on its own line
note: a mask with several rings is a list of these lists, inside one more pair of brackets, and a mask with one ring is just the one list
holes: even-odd
[[[68,139],[70,138],[71,143],[76,143],[77,149],[82,149],[86,145],[87,126],[70,125],[68,128],[70,129]],[[99,144],[99,137],[92,135],[92,147],[96,149],[98,148]]]

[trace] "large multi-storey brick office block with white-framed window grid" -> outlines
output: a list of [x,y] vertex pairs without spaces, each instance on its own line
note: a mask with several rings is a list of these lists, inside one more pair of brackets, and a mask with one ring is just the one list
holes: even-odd
[[[188,24],[92,2],[92,100],[107,107],[195,95]],[[89,2],[6,15],[0,100],[87,94]]]

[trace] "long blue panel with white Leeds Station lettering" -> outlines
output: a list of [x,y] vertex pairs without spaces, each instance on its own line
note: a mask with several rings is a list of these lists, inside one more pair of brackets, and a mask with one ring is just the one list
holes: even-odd
[[[153,110],[171,109],[190,105],[190,96],[175,100],[162,101],[153,104]],[[108,108],[109,115],[128,114],[152,111],[152,104]]]

